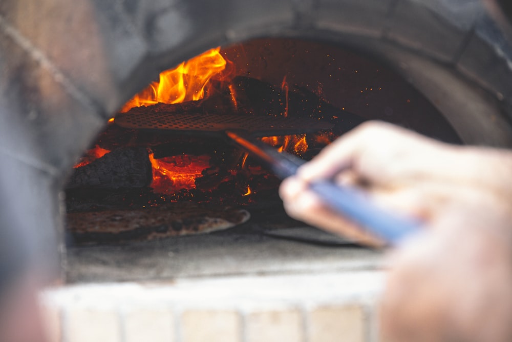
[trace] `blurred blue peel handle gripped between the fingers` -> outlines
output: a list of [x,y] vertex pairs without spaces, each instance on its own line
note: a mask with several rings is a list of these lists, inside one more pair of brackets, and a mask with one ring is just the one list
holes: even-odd
[[331,209],[365,227],[370,233],[396,245],[420,230],[421,221],[397,216],[371,202],[365,193],[329,181],[311,184],[313,190]]

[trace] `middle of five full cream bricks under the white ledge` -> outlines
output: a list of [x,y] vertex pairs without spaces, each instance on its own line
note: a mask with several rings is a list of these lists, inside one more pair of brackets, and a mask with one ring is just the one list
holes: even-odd
[[198,310],[182,316],[184,342],[238,342],[241,322],[237,312]]

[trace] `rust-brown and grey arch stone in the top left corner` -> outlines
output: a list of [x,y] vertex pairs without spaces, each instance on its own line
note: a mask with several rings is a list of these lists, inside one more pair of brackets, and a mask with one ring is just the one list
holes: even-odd
[[0,15],[108,113],[119,106],[121,85],[146,54],[114,1],[8,1],[0,4]]

